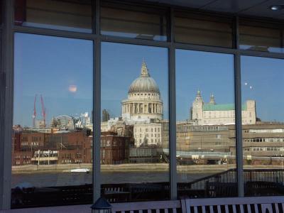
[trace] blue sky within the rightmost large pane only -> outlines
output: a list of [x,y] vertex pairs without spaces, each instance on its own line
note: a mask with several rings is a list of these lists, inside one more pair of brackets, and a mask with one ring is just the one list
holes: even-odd
[[256,116],[262,121],[284,121],[284,60],[241,57],[242,101],[256,100]]

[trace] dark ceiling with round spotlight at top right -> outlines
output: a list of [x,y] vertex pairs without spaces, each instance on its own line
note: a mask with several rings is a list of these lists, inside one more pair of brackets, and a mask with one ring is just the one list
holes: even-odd
[[237,13],[244,16],[260,16],[284,19],[284,9],[272,11],[269,6],[284,5],[284,0],[143,0],[156,3],[186,6],[192,9]]

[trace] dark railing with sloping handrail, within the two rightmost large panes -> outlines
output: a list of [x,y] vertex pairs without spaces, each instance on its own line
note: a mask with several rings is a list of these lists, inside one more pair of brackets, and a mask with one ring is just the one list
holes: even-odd
[[[245,169],[245,195],[284,195],[284,169]],[[236,170],[178,183],[180,197],[236,197]]]

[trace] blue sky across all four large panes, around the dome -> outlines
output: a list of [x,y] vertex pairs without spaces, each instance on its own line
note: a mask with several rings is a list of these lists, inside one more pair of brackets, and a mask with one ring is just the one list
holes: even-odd
[[[168,49],[143,45],[102,43],[102,109],[120,116],[121,100],[140,75],[145,58],[160,88],[164,118],[168,119]],[[33,99],[41,118],[43,94],[47,121],[52,116],[75,116],[92,111],[92,41],[16,33],[14,124],[31,126]],[[243,102],[255,99],[263,121],[284,119],[283,60],[241,58]],[[72,92],[70,86],[77,90]],[[176,50],[177,120],[189,119],[197,89],[204,102],[213,92],[217,104],[234,103],[234,57],[220,53]]]

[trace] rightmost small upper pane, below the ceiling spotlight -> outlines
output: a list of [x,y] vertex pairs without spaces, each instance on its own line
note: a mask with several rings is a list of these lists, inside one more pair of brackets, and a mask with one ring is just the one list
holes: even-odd
[[273,23],[240,21],[239,43],[243,50],[284,53],[283,29]]

